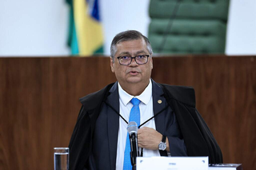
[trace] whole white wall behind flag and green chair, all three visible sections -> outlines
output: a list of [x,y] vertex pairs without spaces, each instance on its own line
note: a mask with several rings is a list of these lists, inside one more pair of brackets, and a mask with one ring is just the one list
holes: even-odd
[[[105,53],[123,30],[147,35],[150,0],[100,0]],[[231,0],[226,53],[256,55],[256,1]],[[0,56],[68,55],[69,8],[65,0],[2,0]]]

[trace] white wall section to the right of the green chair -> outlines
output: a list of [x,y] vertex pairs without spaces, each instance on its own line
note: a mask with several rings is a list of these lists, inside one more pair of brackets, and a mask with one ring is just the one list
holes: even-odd
[[226,54],[256,54],[256,0],[231,0]]

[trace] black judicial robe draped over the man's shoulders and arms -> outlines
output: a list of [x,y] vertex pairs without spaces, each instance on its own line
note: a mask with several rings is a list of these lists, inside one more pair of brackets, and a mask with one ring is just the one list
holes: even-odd
[[[114,83],[82,97],[82,109],[69,144],[70,170],[82,170],[87,167],[93,148],[94,127],[102,109],[102,103],[106,101],[113,85]],[[186,144],[187,155],[209,156],[210,164],[222,163],[221,149],[206,122],[195,109],[194,89],[185,86],[158,85],[162,87],[168,105],[174,110]]]

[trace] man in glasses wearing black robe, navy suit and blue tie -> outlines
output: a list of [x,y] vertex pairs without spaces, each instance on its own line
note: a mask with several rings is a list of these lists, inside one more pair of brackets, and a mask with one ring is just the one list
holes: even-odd
[[143,156],[209,156],[210,163],[222,163],[222,152],[195,109],[194,89],[150,79],[153,52],[148,39],[125,31],[114,37],[110,49],[110,67],[118,81],[80,99],[70,169],[130,169],[126,128],[133,120],[141,125],[138,147]]

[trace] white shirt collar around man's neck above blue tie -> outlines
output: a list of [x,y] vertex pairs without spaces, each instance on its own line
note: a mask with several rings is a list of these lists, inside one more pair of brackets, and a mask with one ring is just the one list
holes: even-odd
[[[126,93],[125,90],[122,89],[121,85],[118,82],[118,93],[119,97],[123,103],[123,105],[127,105],[134,96],[131,96],[129,93]],[[146,86],[146,89],[139,95],[135,96],[138,100],[142,101],[145,105],[150,102],[150,98],[152,97],[152,83],[150,81],[149,85]]]

